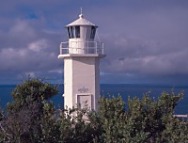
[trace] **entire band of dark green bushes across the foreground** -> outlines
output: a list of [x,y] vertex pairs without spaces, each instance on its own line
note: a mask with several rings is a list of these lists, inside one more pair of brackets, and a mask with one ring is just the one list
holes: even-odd
[[184,143],[188,122],[174,117],[182,93],[139,99],[101,98],[98,111],[55,109],[57,88],[29,79],[13,91],[0,112],[0,142],[7,143]]

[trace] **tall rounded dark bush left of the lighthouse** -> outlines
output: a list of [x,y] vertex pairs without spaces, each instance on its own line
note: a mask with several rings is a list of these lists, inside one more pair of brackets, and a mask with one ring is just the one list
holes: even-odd
[[[12,92],[13,101],[7,105],[2,119],[4,142],[37,142],[43,137],[41,128],[48,99],[58,93],[57,88],[38,79],[28,79]],[[53,110],[53,106],[51,106]]]

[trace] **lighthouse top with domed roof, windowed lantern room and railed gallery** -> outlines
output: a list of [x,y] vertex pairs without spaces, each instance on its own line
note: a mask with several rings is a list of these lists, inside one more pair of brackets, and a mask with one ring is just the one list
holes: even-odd
[[84,18],[83,14],[72,23],[66,25],[68,41],[61,42],[59,58],[67,54],[104,54],[104,45],[100,41],[95,41],[97,25]]

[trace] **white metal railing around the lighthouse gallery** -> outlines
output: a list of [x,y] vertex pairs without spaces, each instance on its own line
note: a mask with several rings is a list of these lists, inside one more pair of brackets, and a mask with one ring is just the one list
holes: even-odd
[[60,54],[104,54],[104,43],[97,41],[61,42]]

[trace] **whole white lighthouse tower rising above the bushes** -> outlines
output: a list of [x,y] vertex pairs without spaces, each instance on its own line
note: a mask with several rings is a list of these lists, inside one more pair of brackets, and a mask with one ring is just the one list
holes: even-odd
[[100,59],[104,44],[95,41],[97,25],[79,18],[66,26],[69,40],[61,42],[59,59],[64,59],[64,108],[96,110],[100,97]]

